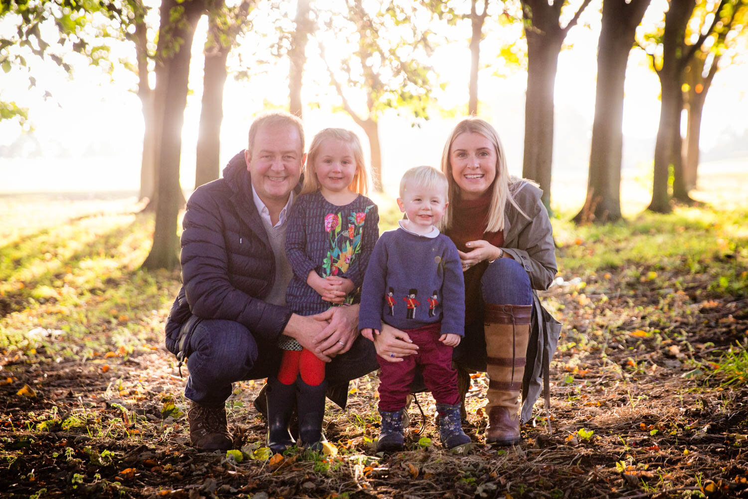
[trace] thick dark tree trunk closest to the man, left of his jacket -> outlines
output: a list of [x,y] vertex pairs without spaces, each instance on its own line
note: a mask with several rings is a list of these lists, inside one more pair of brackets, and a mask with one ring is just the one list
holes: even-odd
[[[183,198],[180,187],[180,150],[182,126],[187,105],[188,75],[192,37],[200,19],[202,2],[165,0],[161,5],[156,93],[162,92],[163,116],[160,120],[159,203],[156,206],[156,229],[153,247],[143,266],[145,269],[176,269],[177,214]],[[174,19],[172,20],[172,16]],[[175,43],[180,40],[180,43]]]

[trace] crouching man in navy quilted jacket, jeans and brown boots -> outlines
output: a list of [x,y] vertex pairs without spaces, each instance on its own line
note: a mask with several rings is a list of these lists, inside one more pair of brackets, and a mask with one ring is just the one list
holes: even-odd
[[[278,371],[278,336],[330,362],[331,386],[375,370],[375,350],[358,337],[358,305],[318,316],[286,308],[292,271],[285,255],[286,215],[304,167],[304,132],[291,114],[257,118],[248,147],[224,177],[190,196],[181,245],[183,286],[166,324],[167,348],[188,358],[185,396],[190,438],[200,450],[227,450],[225,401],[231,383]],[[345,406],[347,391],[334,399]],[[329,395],[329,392],[328,392]]]

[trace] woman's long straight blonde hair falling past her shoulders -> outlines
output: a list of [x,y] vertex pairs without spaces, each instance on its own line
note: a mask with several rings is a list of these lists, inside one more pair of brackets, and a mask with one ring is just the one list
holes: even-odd
[[[491,141],[491,144],[494,144],[494,148],[496,149],[496,178],[494,178],[494,185],[491,186],[493,188],[493,193],[491,194],[491,206],[488,207],[488,220],[485,221],[485,232],[498,232],[499,230],[503,230],[504,209],[506,208],[507,201],[512,203],[512,206],[514,206],[518,212],[526,218],[529,218],[512,197],[512,192],[510,191],[512,179],[509,178],[509,168],[506,166],[506,156],[504,156],[504,147],[501,145],[501,141],[499,140],[499,134],[497,134],[496,129],[494,129],[490,123],[479,117],[467,117],[465,120],[457,123],[457,126],[452,130],[452,135],[450,135],[449,140],[447,140],[447,144],[444,144],[444,152],[441,154],[441,171],[450,183],[450,199],[455,200],[459,198],[460,192],[460,188],[452,175],[450,150],[452,149],[452,144],[458,135],[462,135],[463,133],[477,133],[483,135]],[[450,203],[450,206],[447,206],[447,212],[444,213],[444,218],[441,219],[441,226],[444,227],[444,229],[450,228],[450,224],[453,220],[454,206],[454,203]]]

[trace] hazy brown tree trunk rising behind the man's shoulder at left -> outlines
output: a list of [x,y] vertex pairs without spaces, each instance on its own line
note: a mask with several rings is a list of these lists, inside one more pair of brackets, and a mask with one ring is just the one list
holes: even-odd
[[230,43],[221,43],[223,36],[215,13],[211,13],[208,16],[208,39],[204,50],[203,102],[200,108],[200,132],[197,136],[195,189],[218,179],[221,174],[221,121],[224,119],[226,59],[231,49]]

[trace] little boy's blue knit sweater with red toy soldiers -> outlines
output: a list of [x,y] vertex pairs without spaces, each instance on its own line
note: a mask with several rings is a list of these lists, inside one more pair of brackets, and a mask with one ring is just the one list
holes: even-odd
[[383,233],[364,276],[358,328],[439,321],[442,334],[465,334],[465,281],[455,244],[441,233],[418,236],[402,227]]

